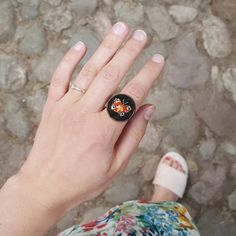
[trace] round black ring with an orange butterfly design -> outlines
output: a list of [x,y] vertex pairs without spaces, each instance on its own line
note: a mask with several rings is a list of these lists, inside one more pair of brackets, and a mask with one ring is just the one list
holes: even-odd
[[135,113],[136,105],[134,100],[126,94],[113,96],[107,104],[107,112],[116,121],[126,121]]

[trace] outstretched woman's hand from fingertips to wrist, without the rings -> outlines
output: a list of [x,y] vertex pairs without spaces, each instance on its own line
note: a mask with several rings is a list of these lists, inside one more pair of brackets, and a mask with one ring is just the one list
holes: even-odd
[[117,23],[83,67],[75,84],[85,94],[69,89],[86,51],[83,43],[67,52],[53,75],[32,151],[17,174],[34,186],[32,198],[49,208],[54,204],[67,211],[98,196],[127,165],[145,133],[154,107],[141,104],[162,70],[162,56],[150,58],[122,89],[137,107],[128,122],[111,119],[105,109],[147,41],[138,30],[118,51],[127,34],[128,27]]

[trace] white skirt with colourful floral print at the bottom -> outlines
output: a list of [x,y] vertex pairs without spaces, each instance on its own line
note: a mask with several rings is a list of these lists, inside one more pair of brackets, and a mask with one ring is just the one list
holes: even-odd
[[78,224],[58,236],[199,236],[191,216],[177,202],[128,201],[86,224]]

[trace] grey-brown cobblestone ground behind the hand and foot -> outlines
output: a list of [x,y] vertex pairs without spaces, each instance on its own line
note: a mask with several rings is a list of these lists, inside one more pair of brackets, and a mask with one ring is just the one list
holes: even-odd
[[107,29],[122,20],[150,36],[123,85],[154,53],[166,58],[147,99],[157,111],[125,172],[48,235],[122,201],[149,198],[155,167],[169,150],[187,158],[182,202],[202,235],[236,235],[235,15],[235,0],[1,0],[0,186],[27,157],[63,53],[83,40],[89,48],[84,64]]

